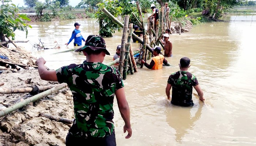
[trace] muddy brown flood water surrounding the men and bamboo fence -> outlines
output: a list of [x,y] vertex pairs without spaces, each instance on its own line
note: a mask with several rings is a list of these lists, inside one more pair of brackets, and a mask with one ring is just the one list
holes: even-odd
[[[231,19],[232,20],[232,19]],[[67,47],[74,23],[81,24],[84,38],[98,34],[95,19],[34,22],[29,29],[29,43],[19,43],[35,57],[44,57],[46,66],[57,69],[71,63],[80,64],[85,57],[77,52],[53,54]],[[17,38],[25,33],[16,32]],[[171,66],[160,70],[146,67],[129,74],[124,80],[125,93],[131,110],[132,137],[125,139],[124,122],[116,101],[115,131],[119,146],[253,146],[256,145],[256,22],[230,21],[205,23],[190,32],[170,35],[173,57]],[[121,32],[105,38],[110,62],[121,44]],[[34,50],[38,38],[47,47],[60,49]],[[133,49],[139,47],[132,43]],[[165,87],[169,75],[179,70],[179,60],[191,59],[189,72],[194,74],[203,89],[206,105],[195,96],[193,107],[178,107],[166,100]],[[150,61],[148,61],[150,62]],[[196,91],[193,91],[196,93]]]

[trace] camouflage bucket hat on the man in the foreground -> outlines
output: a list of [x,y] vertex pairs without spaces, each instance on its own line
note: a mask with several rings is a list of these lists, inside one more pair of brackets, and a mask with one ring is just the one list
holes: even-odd
[[89,35],[86,39],[84,47],[82,47],[79,52],[80,51],[84,51],[88,55],[99,54],[104,51],[107,55],[110,55],[106,49],[105,40],[99,35]]

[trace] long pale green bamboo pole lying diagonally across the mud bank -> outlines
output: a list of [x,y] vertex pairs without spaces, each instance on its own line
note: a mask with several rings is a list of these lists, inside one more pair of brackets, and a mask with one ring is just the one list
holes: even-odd
[[67,87],[67,84],[62,83],[59,86],[53,87],[53,88],[51,88],[51,89],[49,89],[47,91],[44,91],[44,92],[39,93],[39,94],[37,94],[35,96],[32,96],[32,97],[27,98],[25,100],[22,100],[22,101],[14,104],[14,105],[12,105],[12,106],[10,106],[8,108],[5,108],[4,110],[0,111],[0,117],[3,117],[3,116],[5,116],[5,115],[7,115],[7,114],[9,114],[9,113],[11,113],[11,112],[13,112],[15,110],[18,110],[19,108],[24,107],[25,105],[27,105],[29,103],[37,101],[37,100],[39,100],[39,99],[41,99],[41,98],[43,98],[45,96],[48,96],[48,95],[50,95],[50,94],[52,94],[54,92],[57,92],[60,89],[63,89],[65,87]]

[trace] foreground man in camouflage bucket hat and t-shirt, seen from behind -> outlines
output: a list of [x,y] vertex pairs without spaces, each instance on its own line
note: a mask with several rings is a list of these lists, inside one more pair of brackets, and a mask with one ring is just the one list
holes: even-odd
[[113,101],[116,96],[124,120],[125,138],[132,135],[130,112],[125,98],[124,84],[117,69],[102,64],[105,55],[110,55],[102,37],[89,35],[80,49],[87,62],[71,64],[57,70],[47,70],[44,58],[36,61],[43,80],[67,83],[74,100],[75,119],[66,137],[66,145],[78,143],[98,146],[116,146],[114,132]]

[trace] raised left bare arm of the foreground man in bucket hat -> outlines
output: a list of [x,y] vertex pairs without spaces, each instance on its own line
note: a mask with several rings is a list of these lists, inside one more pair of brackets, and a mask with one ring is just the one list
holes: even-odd
[[38,73],[42,80],[46,81],[58,81],[55,70],[47,70],[44,66],[46,63],[44,58],[39,58],[35,61],[35,64],[38,65]]

